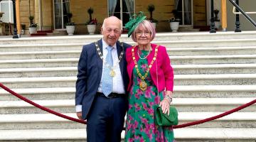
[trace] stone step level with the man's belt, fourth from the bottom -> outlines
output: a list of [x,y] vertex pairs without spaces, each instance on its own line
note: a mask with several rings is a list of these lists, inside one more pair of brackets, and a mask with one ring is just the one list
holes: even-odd
[[[74,99],[75,87],[19,88],[12,89],[28,99]],[[256,85],[175,85],[177,98],[211,97],[255,97]],[[0,101],[18,100],[13,95],[0,89]]]

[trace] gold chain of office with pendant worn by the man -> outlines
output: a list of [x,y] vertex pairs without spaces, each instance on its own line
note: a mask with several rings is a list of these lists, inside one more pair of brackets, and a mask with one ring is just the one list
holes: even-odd
[[97,48],[97,53],[100,55],[100,58],[102,59],[102,61],[104,62],[104,64],[110,68],[110,76],[111,77],[114,77],[116,75],[116,72],[114,72],[114,68],[117,67],[117,64],[119,64],[120,60],[122,59],[122,56],[124,55],[124,45],[123,43],[121,42],[120,43],[121,46],[122,46],[122,52],[121,54],[119,55],[119,58],[118,58],[118,61],[113,65],[113,67],[111,67],[111,65],[107,64],[107,61],[104,60],[103,58],[103,55],[102,53],[100,52],[100,48],[99,48],[99,45],[97,44],[97,42],[95,41],[95,46]]

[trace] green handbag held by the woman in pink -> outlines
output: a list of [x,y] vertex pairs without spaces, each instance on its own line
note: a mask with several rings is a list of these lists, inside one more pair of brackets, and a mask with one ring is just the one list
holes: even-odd
[[176,107],[170,107],[170,114],[164,114],[161,107],[155,109],[155,123],[158,126],[173,126],[178,124],[178,111]]

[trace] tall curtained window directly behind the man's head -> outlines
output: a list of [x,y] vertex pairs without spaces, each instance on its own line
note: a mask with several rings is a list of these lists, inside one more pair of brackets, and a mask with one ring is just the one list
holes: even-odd
[[108,16],[116,16],[125,24],[134,15],[134,0],[109,0]]

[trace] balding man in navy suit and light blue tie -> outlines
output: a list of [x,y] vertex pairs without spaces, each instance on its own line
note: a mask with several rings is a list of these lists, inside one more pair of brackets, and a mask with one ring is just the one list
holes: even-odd
[[122,21],[105,18],[103,38],[84,45],[78,62],[75,105],[79,119],[87,119],[87,141],[121,141],[127,102],[127,62],[130,47],[118,41]]

